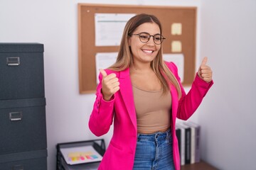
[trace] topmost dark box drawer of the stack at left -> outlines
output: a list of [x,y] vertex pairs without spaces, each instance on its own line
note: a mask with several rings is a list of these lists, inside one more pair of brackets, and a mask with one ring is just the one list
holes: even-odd
[[44,97],[43,45],[0,43],[0,100]]

